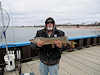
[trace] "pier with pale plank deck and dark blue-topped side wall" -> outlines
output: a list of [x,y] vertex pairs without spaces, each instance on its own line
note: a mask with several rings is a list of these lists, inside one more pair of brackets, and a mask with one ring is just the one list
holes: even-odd
[[[73,36],[68,37],[68,40],[74,46],[62,49],[59,75],[100,75],[100,35]],[[8,43],[7,46],[10,52],[14,51],[16,65],[18,65],[17,51],[21,52],[22,73],[34,72],[35,75],[40,75],[38,48],[32,49],[30,41]],[[0,44],[0,72],[4,72],[6,65],[5,48],[5,44]],[[5,71],[4,75],[19,75],[17,66],[14,71]]]

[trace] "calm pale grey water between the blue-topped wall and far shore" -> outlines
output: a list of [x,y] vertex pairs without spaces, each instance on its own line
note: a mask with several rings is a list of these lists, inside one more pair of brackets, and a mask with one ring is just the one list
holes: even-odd
[[[36,35],[37,27],[9,27],[7,30],[7,42],[25,42],[29,41]],[[68,37],[86,36],[86,35],[99,35],[99,29],[85,29],[85,28],[58,28],[63,30]],[[0,43],[4,40],[0,39]]]

